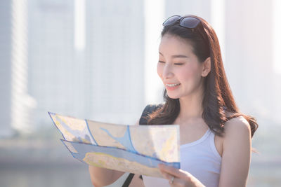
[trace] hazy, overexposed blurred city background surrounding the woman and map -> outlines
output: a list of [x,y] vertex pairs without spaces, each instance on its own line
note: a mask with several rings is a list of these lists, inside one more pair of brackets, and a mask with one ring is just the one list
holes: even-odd
[[281,186],[281,1],[1,0],[0,186],[91,186],[48,111],[134,124],[163,102],[162,22],[216,30],[230,87],[255,116],[248,186]]

